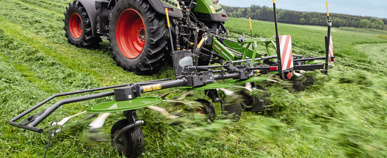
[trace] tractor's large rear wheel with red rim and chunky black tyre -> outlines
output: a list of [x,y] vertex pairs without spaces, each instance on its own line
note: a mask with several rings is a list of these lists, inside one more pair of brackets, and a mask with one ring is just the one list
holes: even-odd
[[116,65],[137,75],[157,72],[164,63],[167,43],[163,18],[147,0],[116,0],[108,26]]

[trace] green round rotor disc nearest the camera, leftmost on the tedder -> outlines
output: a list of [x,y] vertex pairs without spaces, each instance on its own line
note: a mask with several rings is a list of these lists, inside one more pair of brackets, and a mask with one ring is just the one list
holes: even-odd
[[86,111],[91,113],[103,112],[119,112],[125,110],[133,110],[144,108],[151,105],[156,105],[163,102],[160,97],[138,97],[132,100],[125,101],[108,101],[87,107]]

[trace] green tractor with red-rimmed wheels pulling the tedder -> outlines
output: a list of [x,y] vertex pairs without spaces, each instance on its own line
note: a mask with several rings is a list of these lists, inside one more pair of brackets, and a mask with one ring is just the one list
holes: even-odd
[[[108,39],[116,65],[135,74],[157,72],[170,60],[171,50],[192,49],[203,30],[226,31],[228,21],[218,0],[79,0],[64,14],[68,43],[93,48],[101,38]],[[211,51],[200,51],[200,64],[210,63]]]

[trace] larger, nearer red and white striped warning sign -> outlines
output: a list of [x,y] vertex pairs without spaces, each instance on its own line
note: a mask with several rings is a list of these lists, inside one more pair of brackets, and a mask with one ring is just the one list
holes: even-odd
[[283,35],[279,37],[279,52],[281,53],[282,70],[293,67],[293,52],[291,48],[291,36]]

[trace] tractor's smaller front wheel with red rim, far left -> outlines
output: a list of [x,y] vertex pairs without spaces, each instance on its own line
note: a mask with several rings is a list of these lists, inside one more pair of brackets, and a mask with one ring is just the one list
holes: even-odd
[[65,27],[63,29],[66,31],[65,36],[68,43],[81,48],[98,46],[102,39],[92,36],[89,16],[78,1],[70,2],[64,14]]

